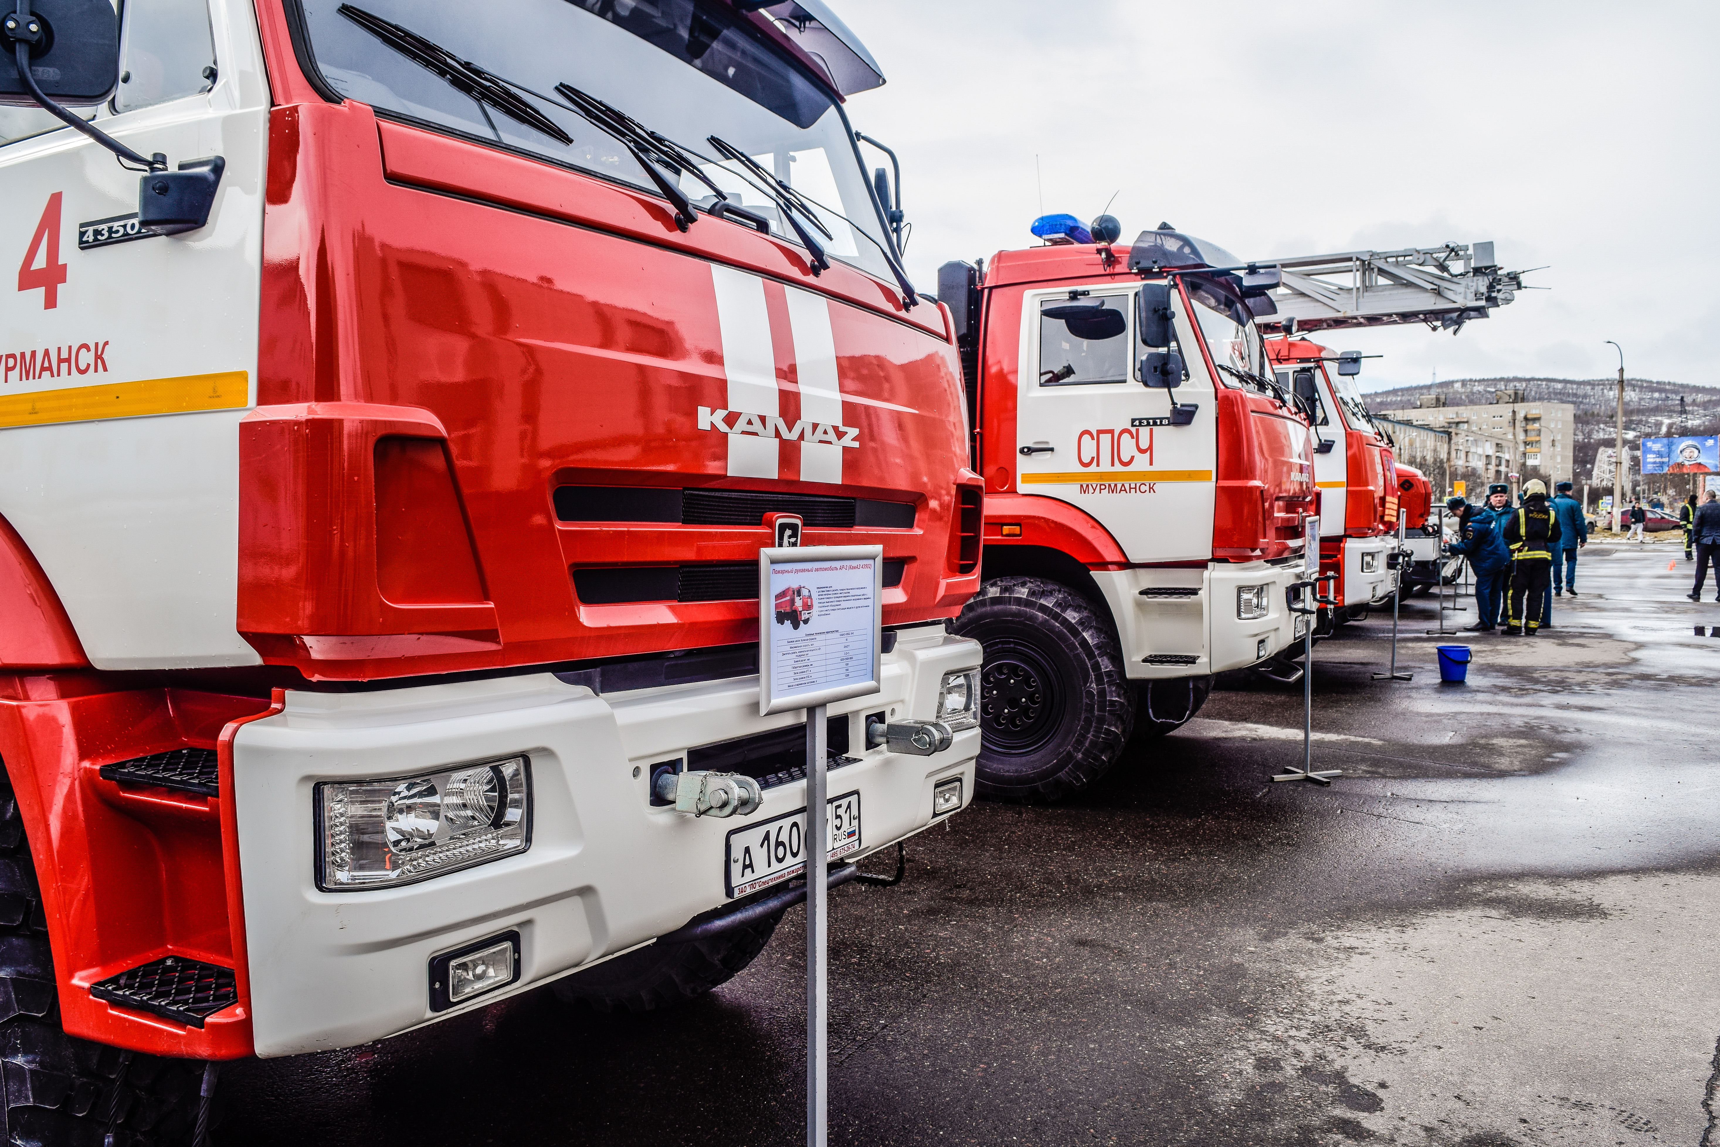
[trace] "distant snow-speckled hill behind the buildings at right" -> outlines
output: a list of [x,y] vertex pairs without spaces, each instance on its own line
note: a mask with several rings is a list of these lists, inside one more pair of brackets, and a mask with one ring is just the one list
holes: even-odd
[[[1422,397],[1443,394],[1447,406],[1491,402],[1495,390],[1524,390],[1529,402],[1570,402],[1576,408],[1576,473],[1594,466],[1594,451],[1613,444],[1619,401],[1617,378],[1448,378],[1424,387],[1395,387],[1367,394],[1367,409],[1410,409]],[[1679,423],[1679,399],[1686,423]],[[1720,433],[1720,389],[1656,378],[1624,380],[1624,442],[1680,433]],[[1634,452],[1634,451],[1632,451]]]

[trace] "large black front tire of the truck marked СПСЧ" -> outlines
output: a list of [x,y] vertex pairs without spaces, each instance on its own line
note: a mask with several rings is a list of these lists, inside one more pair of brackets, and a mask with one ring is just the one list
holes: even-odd
[[1111,619],[1042,578],[980,586],[955,631],[986,650],[975,789],[1054,801],[1116,764],[1135,722]]

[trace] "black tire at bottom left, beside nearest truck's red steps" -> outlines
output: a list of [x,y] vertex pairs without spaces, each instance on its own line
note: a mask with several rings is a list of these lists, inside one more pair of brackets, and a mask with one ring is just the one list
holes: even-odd
[[193,1142],[203,1064],[124,1052],[60,1027],[24,820],[0,777],[0,1123],[7,1147]]

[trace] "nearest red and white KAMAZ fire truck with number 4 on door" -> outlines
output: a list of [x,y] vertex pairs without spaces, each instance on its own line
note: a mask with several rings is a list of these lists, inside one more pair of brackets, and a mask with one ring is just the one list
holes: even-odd
[[884,554],[882,691],[831,705],[845,860],[972,798],[955,332],[822,3],[14,5],[12,1142],[200,1135],[212,1061],[743,968],[805,862],[772,524]]

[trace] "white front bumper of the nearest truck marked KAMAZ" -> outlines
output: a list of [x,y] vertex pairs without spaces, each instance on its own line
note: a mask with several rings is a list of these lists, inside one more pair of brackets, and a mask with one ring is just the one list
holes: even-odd
[[[979,643],[943,628],[903,631],[882,691],[829,707],[850,717],[831,793],[860,791],[862,855],[931,824],[932,786],[974,793],[979,731],[936,757],[862,751],[865,714],[931,719],[944,672],[975,669]],[[759,717],[757,678],[599,696],[550,674],[368,693],[289,691],[284,712],[239,729],[234,805],[256,1052],[361,1044],[482,1008],[626,951],[726,903],[724,837],[805,807],[805,782],[765,789],[750,817],[652,807],[650,765],[686,750],[803,724]],[[318,781],[390,777],[525,753],[531,846],[397,889],[316,889]],[[636,774],[636,776],[635,776]],[[518,930],[516,985],[430,1011],[430,958]]]

